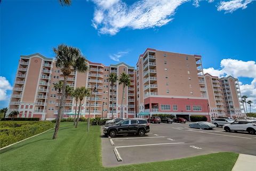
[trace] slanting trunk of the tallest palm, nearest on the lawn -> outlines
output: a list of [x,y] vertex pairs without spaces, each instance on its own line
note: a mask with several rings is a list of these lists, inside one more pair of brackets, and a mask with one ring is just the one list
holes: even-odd
[[63,86],[62,86],[62,94],[61,94],[61,99],[60,99],[60,107],[59,107],[59,110],[58,110],[58,116],[57,116],[57,120],[56,120],[56,124],[55,124],[55,130],[54,130],[52,139],[56,139],[57,136],[58,136],[58,132],[59,132],[59,128],[60,128],[61,111],[62,111],[62,108],[63,108],[63,102],[64,102],[64,98],[65,98],[66,85],[67,85],[67,76],[64,76]]

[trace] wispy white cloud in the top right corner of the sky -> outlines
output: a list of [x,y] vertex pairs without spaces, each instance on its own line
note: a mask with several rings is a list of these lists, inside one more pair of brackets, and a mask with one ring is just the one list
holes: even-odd
[[225,13],[232,13],[238,9],[246,9],[247,5],[254,0],[232,0],[232,1],[221,1],[217,6],[218,11],[225,11]]

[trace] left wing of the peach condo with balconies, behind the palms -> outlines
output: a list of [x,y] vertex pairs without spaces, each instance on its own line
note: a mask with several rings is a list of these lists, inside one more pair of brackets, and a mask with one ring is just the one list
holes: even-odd
[[[113,97],[111,96],[108,81],[111,72],[115,72],[117,75],[125,72],[130,75],[131,86],[125,87],[124,117],[135,117],[135,109],[137,109],[135,68],[125,63],[104,66],[101,63],[94,62],[89,62],[87,72],[73,71],[67,78],[67,85],[73,88],[81,86],[97,87],[97,92],[92,92],[91,108],[90,97],[85,97],[82,101],[83,117],[89,117],[89,110],[91,117],[111,118],[112,110],[114,117],[120,115],[123,87],[117,82],[114,86]],[[63,80],[63,75],[60,69],[55,67],[52,58],[45,58],[45,56],[38,53],[20,56],[7,113],[15,110],[19,111],[18,117],[37,117],[41,120],[55,119],[59,108],[60,93],[57,88],[54,88],[54,83],[58,83],[59,80]],[[68,95],[63,116],[73,117],[75,108],[75,99]]]

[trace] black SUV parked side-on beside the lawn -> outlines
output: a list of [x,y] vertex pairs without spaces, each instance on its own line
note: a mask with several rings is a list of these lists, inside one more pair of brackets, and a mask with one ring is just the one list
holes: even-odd
[[150,128],[145,119],[125,119],[113,125],[106,125],[103,128],[105,136],[115,137],[117,134],[138,134],[144,136],[149,133]]

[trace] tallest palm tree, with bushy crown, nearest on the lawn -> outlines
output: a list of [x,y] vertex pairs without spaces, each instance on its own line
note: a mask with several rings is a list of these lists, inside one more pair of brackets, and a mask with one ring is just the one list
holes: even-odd
[[[55,65],[57,68],[60,68],[61,72],[63,73],[62,92],[65,92],[67,77],[73,70],[78,72],[86,72],[88,69],[87,61],[78,48],[70,47],[64,44],[59,45],[57,48],[53,48],[53,52],[55,53]],[[58,117],[52,139],[56,139],[58,135],[64,99],[65,93],[62,93],[60,99],[60,108],[58,110]]]

